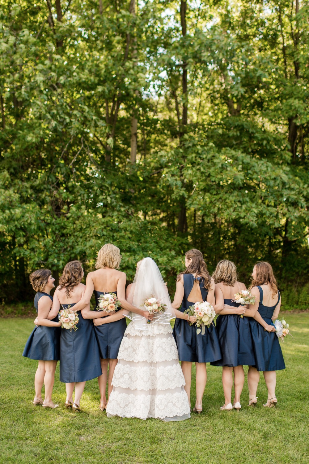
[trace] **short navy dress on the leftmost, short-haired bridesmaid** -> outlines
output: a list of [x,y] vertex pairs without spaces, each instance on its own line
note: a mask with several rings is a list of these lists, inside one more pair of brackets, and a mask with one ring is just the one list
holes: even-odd
[[[34,297],[34,307],[37,311],[38,301],[42,296],[49,296],[51,301],[53,297],[48,293],[37,292]],[[58,317],[53,319],[58,322]],[[35,327],[27,340],[23,356],[37,361],[59,361],[60,359],[60,327],[44,327],[40,325]]]

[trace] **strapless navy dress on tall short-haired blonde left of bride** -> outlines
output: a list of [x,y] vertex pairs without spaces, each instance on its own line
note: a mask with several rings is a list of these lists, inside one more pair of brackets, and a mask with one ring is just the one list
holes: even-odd
[[[106,293],[116,293],[117,295],[116,291],[104,292],[94,290],[96,308],[99,304],[100,295],[105,295]],[[117,311],[120,311],[120,309],[121,308],[117,309]],[[124,338],[124,332],[126,328],[127,323],[125,322],[125,317],[119,319],[119,321],[94,326],[95,335],[99,343],[100,358],[117,359],[120,343]]]

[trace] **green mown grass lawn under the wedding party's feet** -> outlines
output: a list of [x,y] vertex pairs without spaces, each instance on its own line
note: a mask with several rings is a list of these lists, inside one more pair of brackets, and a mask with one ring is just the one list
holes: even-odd
[[256,408],[247,406],[246,379],[241,411],[221,412],[222,369],[207,365],[203,412],[174,423],[107,419],[98,408],[97,380],[87,382],[84,412],[75,415],[63,406],[59,366],[53,400],[60,407],[32,406],[37,361],[21,355],[32,319],[1,319],[0,463],[308,463],[309,314],[285,317],[294,338],[281,344],[286,369],[277,374],[276,408],[262,406],[261,374]]

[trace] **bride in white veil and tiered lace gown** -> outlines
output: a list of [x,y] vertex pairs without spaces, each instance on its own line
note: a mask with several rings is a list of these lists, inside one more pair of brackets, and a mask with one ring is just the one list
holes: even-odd
[[[136,268],[128,302],[141,308],[145,299],[155,297],[164,306],[148,322],[128,311],[94,320],[95,325],[120,317],[131,319],[121,342],[118,363],[112,379],[112,392],[106,406],[107,417],[156,418],[178,421],[190,418],[185,379],[178,360],[170,324],[175,317],[167,287],[153,259],[144,258]],[[122,313],[122,314],[120,314]]]

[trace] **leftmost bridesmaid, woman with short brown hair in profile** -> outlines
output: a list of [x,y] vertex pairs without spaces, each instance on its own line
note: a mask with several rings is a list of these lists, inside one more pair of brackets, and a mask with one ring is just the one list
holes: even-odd
[[[33,290],[37,292],[34,297],[34,307],[37,311],[38,327],[35,327],[28,338],[23,356],[38,360],[37,372],[34,377],[35,397],[34,406],[56,408],[51,399],[54,387],[55,371],[59,361],[59,346],[61,334],[61,322],[57,317],[49,320],[50,308],[53,297],[49,295],[50,290],[55,287],[55,279],[49,269],[39,269],[32,272],[30,282]],[[56,316],[55,313],[54,316]],[[45,386],[45,398],[42,400],[42,387]]]

